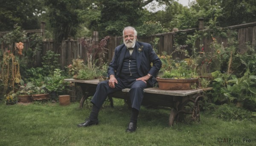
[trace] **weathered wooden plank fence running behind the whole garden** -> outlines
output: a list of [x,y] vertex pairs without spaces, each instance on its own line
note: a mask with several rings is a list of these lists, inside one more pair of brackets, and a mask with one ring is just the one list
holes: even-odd
[[[203,26],[203,20],[199,20],[199,27],[195,29],[186,29],[186,30],[180,30],[180,31],[173,31],[169,33],[164,34],[155,34],[151,36],[146,37],[140,37],[138,35],[138,40],[146,43],[151,43],[151,41],[154,40],[154,38],[158,37],[160,38],[159,43],[157,44],[157,54],[161,54],[162,52],[167,52],[167,54],[171,54],[175,51],[175,40],[179,40],[180,42],[184,42],[185,40],[183,37],[179,37],[179,34],[191,34],[193,35],[194,32],[197,30],[199,32],[207,31],[209,32],[209,29],[204,29]],[[44,25],[43,25],[44,26]],[[236,26],[229,26],[227,29],[236,31],[238,33],[238,42],[240,45],[240,50],[244,49],[244,44],[246,42],[251,42],[253,45],[256,45],[256,22],[253,23],[246,23]],[[43,34],[43,32],[42,32]],[[61,68],[64,69],[64,67],[68,66],[69,64],[72,64],[72,60],[76,58],[81,58],[83,60],[86,59],[86,52],[84,50],[84,47],[81,46],[81,39],[86,39],[89,42],[96,41],[96,35],[93,35],[93,38],[77,38],[76,40],[68,39],[63,40],[61,42],[61,46],[56,46],[56,42],[52,40],[44,40],[43,41],[43,47],[41,51],[39,51],[35,57],[35,66],[41,65],[41,56],[45,55],[48,50],[51,50],[55,53],[61,54],[59,57],[59,63],[61,64]],[[228,40],[227,38],[217,37],[216,38],[218,43],[223,43],[224,46],[227,46]],[[27,50],[29,48],[29,42],[30,40],[24,40],[24,50]],[[204,37],[201,41],[197,41],[195,46],[199,48],[200,44],[204,45],[204,51],[210,52],[212,51],[210,49],[210,44],[212,42],[211,37]],[[107,44],[108,54],[106,54],[105,62],[110,62],[113,58],[114,49],[116,46],[122,43],[122,37],[110,37],[109,42]],[[180,43],[179,43],[180,44]],[[184,45],[184,44],[181,44]],[[188,46],[187,49],[189,49]],[[180,56],[179,54],[174,54],[175,57],[183,58],[184,56]]]

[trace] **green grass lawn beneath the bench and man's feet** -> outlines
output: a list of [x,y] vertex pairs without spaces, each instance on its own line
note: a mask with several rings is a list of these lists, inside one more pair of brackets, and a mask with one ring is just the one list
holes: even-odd
[[[142,107],[138,129],[125,133],[131,110],[122,101],[117,103],[114,102],[114,108],[101,109],[99,125],[85,128],[76,125],[89,116],[90,109],[79,109],[79,103],[69,106],[58,103],[6,106],[0,103],[0,146],[256,145],[256,123],[224,121],[204,112],[201,112],[200,123],[176,123],[169,127],[169,109]],[[222,138],[221,143],[218,138]]]

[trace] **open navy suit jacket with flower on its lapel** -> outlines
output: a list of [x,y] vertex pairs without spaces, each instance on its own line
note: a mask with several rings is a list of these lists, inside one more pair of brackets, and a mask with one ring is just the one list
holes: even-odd
[[[116,47],[114,57],[108,67],[108,77],[111,74],[115,75],[115,77],[119,77],[126,50],[125,44]],[[147,74],[151,74],[155,77],[162,66],[162,62],[154,52],[152,46],[149,43],[136,42],[134,51],[136,51],[139,76],[143,77]],[[151,66],[151,63],[153,63],[153,66]],[[148,80],[148,83],[153,86],[152,77]]]

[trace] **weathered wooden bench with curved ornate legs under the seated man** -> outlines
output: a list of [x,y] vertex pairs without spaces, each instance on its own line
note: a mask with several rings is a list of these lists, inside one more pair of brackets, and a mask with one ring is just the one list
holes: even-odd
[[[75,83],[75,86],[80,86],[82,89],[82,98],[80,100],[79,107],[83,108],[87,103],[88,97],[91,97],[96,92],[96,86],[99,80],[75,80],[65,79]],[[206,89],[191,89],[191,90],[160,90],[158,88],[146,88],[144,89],[144,97],[142,105],[144,106],[163,106],[171,108],[169,116],[169,126],[173,126],[175,120],[178,121],[184,114],[188,114],[194,121],[200,121],[200,108],[199,101],[204,98],[204,92],[211,90]],[[124,99],[126,103],[130,103],[129,97],[130,89],[122,89],[120,92],[115,92],[108,95],[108,101],[110,101],[113,107],[112,97]],[[191,115],[191,116],[190,116]]]

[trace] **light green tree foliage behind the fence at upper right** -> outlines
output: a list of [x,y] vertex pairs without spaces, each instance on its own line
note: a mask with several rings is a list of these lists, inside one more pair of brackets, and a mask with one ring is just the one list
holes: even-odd
[[189,7],[174,2],[155,18],[166,28],[189,29],[198,27],[198,18],[204,18],[205,26],[215,21],[217,26],[227,27],[255,22],[255,15],[255,0],[196,0]]

